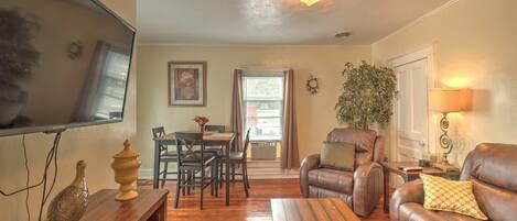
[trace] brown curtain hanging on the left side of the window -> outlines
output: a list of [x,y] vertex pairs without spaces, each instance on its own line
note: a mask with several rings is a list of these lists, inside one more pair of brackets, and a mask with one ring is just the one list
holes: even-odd
[[234,141],[234,150],[243,151],[243,70],[235,69],[234,71],[234,91],[231,96],[231,122],[230,128],[237,137]]

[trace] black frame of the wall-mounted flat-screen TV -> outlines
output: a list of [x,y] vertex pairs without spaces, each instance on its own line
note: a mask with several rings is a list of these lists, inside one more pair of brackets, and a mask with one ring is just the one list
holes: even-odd
[[77,123],[68,123],[68,124],[0,129],[0,136],[10,136],[10,135],[20,135],[20,134],[40,133],[40,132],[53,133],[53,132],[65,131],[67,129],[73,129],[73,128],[99,125],[99,124],[108,124],[108,123],[119,123],[123,121],[123,115],[126,114],[126,104],[127,104],[127,98],[128,98],[129,82],[130,82],[131,65],[132,65],[132,59],[133,59],[134,45],[137,41],[137,29],[134,29],[134,26],[132,26],[129,22],[127,22],[125,19],[118,15],[115,11],[109,9],[105,3],[100,2],[100,0],[89,0],[89,1],[94,2],[95,4],[104,9],[106,12],[108,12],[109,15],[114,16],[116,20],[118,20],[120,23],[122,23],[126,27],[128,27],[132,32],[131,52],[129,55],[130,59],[129,59],[128,76],[127,76],[127,81],[126,81],[126,92],[123,95],[121,118],[114,119],[114,120],[110,119],[110,120],[77,122]]

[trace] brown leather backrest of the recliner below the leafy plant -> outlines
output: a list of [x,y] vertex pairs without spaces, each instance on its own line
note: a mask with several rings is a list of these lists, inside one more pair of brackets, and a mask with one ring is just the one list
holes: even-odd
[[334,129],[326,136],[328,142],[344,142],[356,146],[356,165],[380,162],[384,158],[384,140],[371,130]]

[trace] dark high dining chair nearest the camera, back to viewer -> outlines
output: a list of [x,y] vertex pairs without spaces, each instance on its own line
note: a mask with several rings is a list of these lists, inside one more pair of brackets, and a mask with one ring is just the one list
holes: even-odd
[[[203,141],[203,133],[192,132],[176,132],[176,152],[177,152],[177,187],[174,201],[174,208],[180,203],[180,191],[190,187],[200,187],[200,210],[203,209],[204,189],[208,186],[212,187],[217,195],[217,174],[218,165],[216,156],[206,152]],[[200,146],[200,150],[195,150]],[[185,147],[185,148],[183,148]],[[209,169],[207,176],[206,169]],[[201,174],[198,183],[195,175]]]

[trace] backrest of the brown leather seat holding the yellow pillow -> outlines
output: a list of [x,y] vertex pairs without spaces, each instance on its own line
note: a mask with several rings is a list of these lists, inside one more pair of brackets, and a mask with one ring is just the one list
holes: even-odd
[[468,153],[461,179],[473,183],[481,210],[491,220],[517,217],[517,145],[482,143]]

